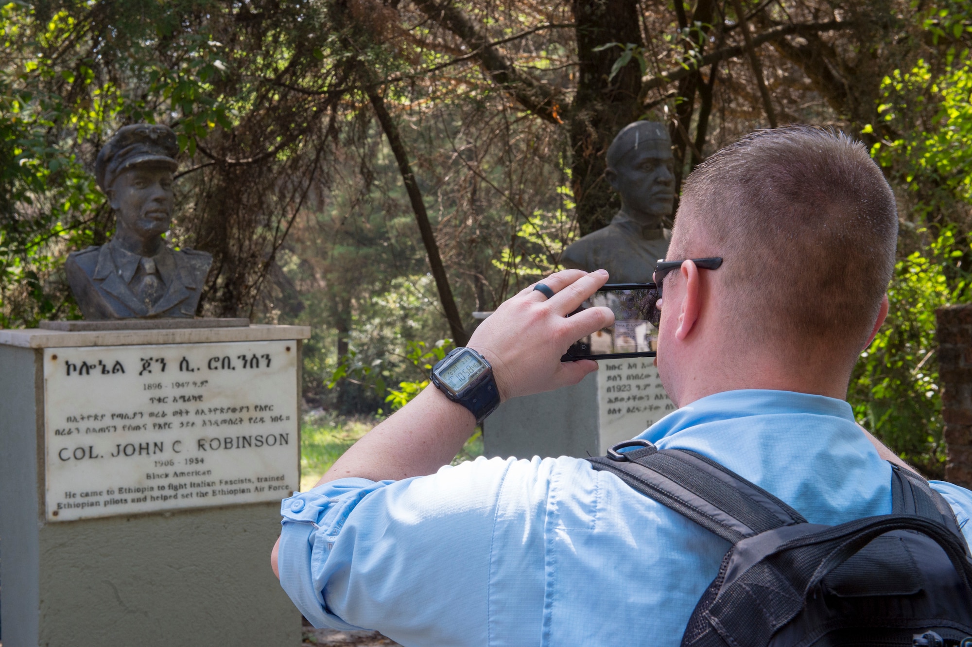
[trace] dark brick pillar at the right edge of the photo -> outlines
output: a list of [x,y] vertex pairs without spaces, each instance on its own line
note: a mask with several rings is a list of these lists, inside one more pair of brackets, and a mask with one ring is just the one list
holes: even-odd
[[972,305],[941,308],[938,377],[948,460],[945,479],[972,488]]

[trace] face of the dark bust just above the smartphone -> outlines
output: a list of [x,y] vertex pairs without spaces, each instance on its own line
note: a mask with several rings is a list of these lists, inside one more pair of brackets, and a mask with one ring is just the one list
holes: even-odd
[[653,223],[672,215],[674,169],[675,159],[668,142],[648,140],[625,153],[607,175],[611,187],[621,194],[628,214]]

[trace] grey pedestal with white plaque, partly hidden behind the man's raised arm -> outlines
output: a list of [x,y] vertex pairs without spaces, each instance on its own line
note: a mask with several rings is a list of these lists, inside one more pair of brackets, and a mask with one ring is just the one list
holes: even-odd
[[573,387],[503,402],[484,423],[485,455],[602,456],[675,411],[652,358],[598,363]]

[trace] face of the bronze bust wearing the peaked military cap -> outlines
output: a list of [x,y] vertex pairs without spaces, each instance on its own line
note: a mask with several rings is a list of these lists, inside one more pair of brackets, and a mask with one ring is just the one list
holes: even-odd
[[109,190],[118,228],[143,239],[160,236],[172,223],[172,171],[142,165],[116,178]]

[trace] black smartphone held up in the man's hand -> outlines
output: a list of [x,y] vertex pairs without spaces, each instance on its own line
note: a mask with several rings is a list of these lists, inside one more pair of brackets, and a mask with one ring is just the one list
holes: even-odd
[[655,357],[661,321],[657,303],[658,289],[653,283],[607,284],[571,316],[587,308],[607,306],[614,313],[614,324],[578,339],[560,360]]

